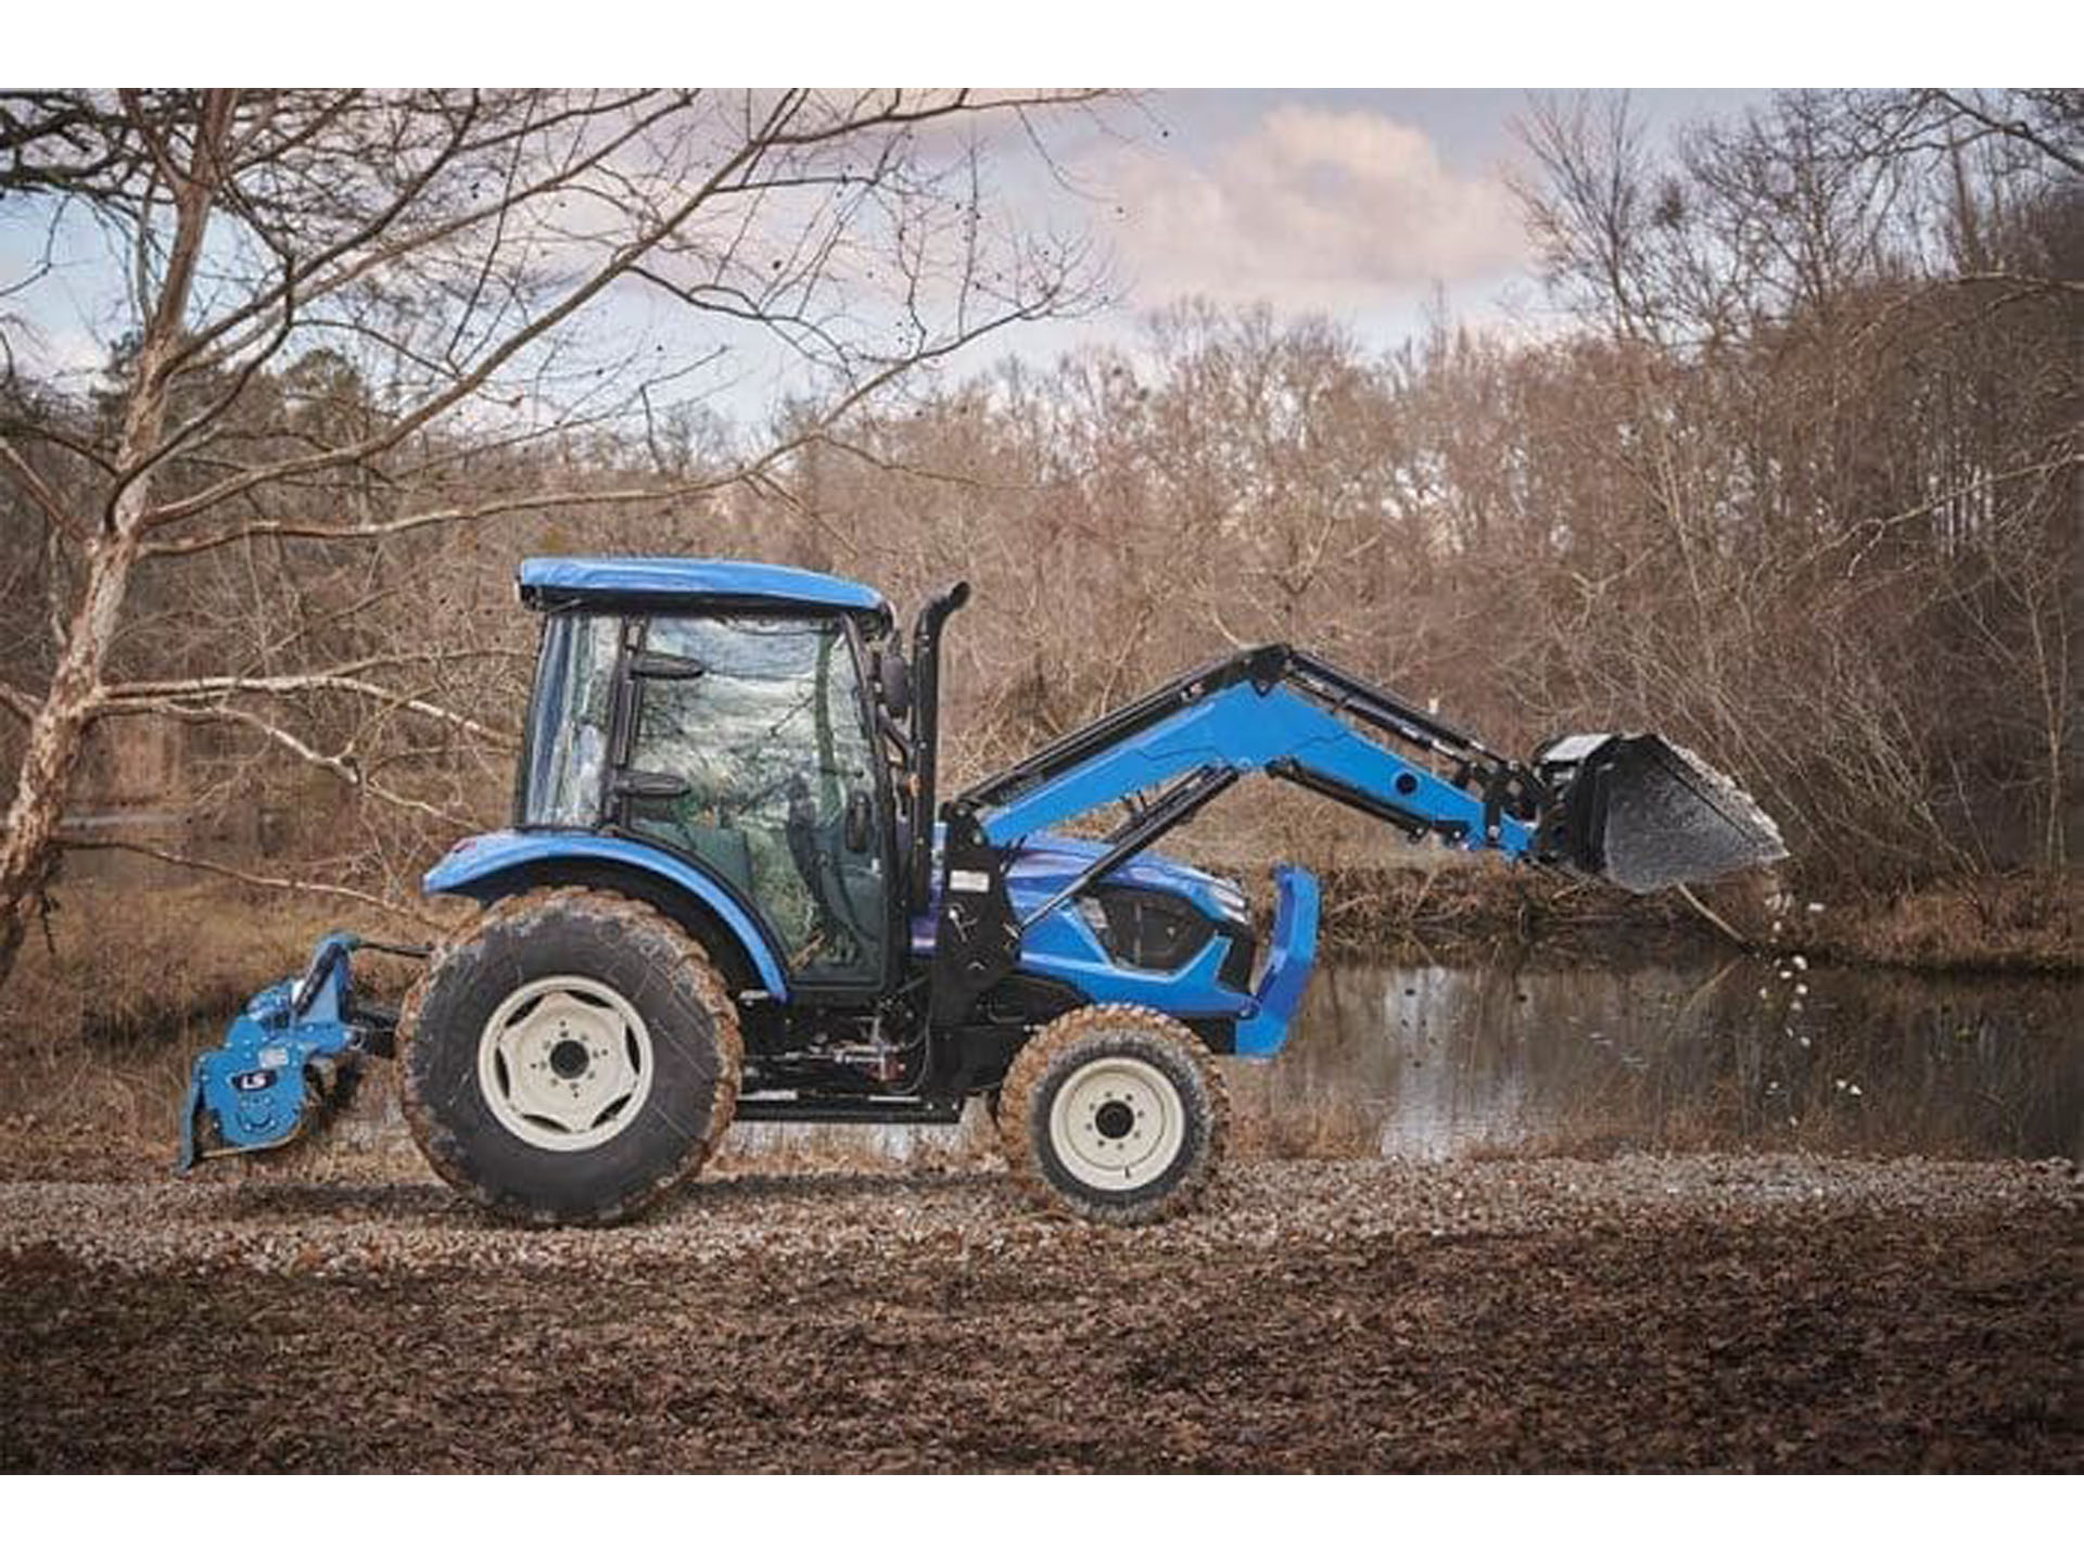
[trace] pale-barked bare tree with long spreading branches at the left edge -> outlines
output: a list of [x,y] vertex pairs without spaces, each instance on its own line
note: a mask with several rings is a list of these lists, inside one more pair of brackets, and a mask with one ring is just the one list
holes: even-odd
[[[386,569],[427,567],[429,538],[486,519],[659,511],[777,483],[794,452],[919,365],[1090,302],[1092,256],[1021,238],[977,175],[990,121],[1034,142],[1082,102],[894,90],[0,98],[6,221],[100,233],[127,294],[117,381],[81,404],[17,381],[48,263],[0,279],[0,473],[8,513],[40,536],[29,554],[46,609],[33,654],[13,663],[42,688],[0,684],[0,711],[23,727],[0,840],[0,984],[96,721],[231,727],[436,817],[440,802],[300,723],[346,702],[429,742],[502,738],[498,717],[429,677],[469,636],[392,625],[402,638],[388,648],[327,656],[338,636],[306,634],[311,619],[292,613],[300,569],[338,575],[356,556],[365,596],[381,596]],[[752,342],[794,365],[784,433],[654,461],[631,481],[579,461],[588,440],[638,431],[654,452],[686,440],[700,394]],[[173,571],[223,561],[256,629],[225,634],[215,667],[198,638],[154,665],[163,638],[125,636],[138,594],[179,604],[208,575]],[[273,619],[296,619],[296,634]]]

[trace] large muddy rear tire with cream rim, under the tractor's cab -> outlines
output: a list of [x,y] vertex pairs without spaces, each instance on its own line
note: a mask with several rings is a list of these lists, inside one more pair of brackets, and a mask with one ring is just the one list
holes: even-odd
[[498,1215],[623,1221],[692,1177],[738,1105],[738,1009],[702,946],[602,890],[490,907],[398,1017],[433,1169]]

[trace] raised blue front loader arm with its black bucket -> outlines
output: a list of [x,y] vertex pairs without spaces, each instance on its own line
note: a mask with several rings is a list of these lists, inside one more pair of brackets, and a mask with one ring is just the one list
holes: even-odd
[[[1782,854],[1773,823],[1748,796],[1661,738],[1580,734],[1517,763],[1319,656],[1257,646],[1065,734],[942,809],[936,1017],[959,1019],[1009,971],[1025,927],[1252,771],[1413,840],[1494,850],[1636,892]],[[1109,850],[1015,919],[1004,890],[1013,848],[1115,802],[1127,802],[1130,817]]]

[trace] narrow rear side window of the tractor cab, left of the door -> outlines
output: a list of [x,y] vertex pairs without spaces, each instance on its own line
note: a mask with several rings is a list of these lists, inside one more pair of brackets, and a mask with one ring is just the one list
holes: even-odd
[[592,829],[609,763],[609,702],[623,621],[556,615],[544,625],[529,711],[523,825]]

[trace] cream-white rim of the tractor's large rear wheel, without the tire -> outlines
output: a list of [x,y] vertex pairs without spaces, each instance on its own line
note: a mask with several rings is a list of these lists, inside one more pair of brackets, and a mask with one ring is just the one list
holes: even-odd
[[652,1044],[627,998],[592,977],[538,977],[492,1011],[477,1088],[492,1117],[540,1150],[592,1150],[636,1123]]

